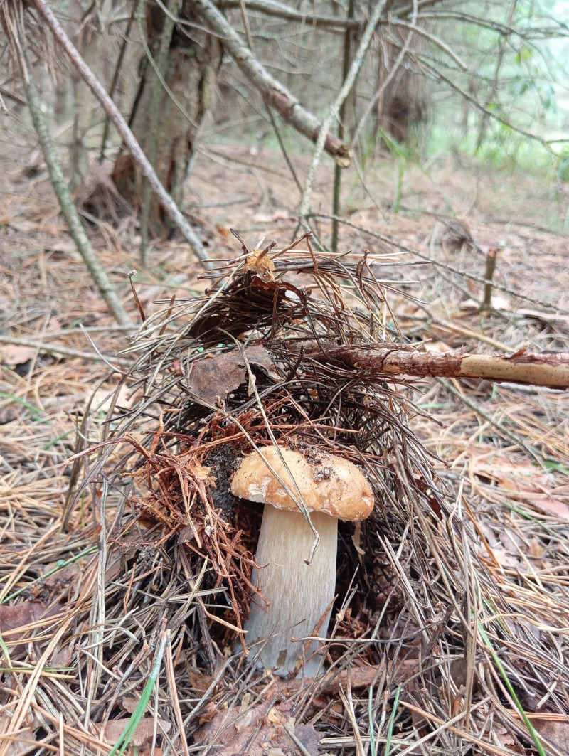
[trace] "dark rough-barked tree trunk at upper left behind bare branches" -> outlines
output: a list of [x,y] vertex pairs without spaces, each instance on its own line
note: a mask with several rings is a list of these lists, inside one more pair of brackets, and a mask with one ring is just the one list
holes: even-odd
[[[170,4],[176,5],[174,4]],[[178,17],[195,26],[175,26],[169,44],[164,80],[169,91],[158,81],[156,60],[165,26],[165,14],[156,5],[146,11],[146,39],[153,63],[145,56],[141,64],[141,82],[132,109],[130,125],[147,156],[153,152],[153,112],[156,110],[156,87],[160,88],[157,110],[157,141],[153,167],[163,186],[180,206],[184,179],[196,147],[203,118],[211,107],[215,79],[221,64],[221,45],[203,31],[192,3],[178,3]],[[137,211],[144,204],[145,181],[127,150],[122,150],[113,168],[113,181]],[[148,218],[154,238],[166,237],[171,231],[169,217],[153,197]]]

